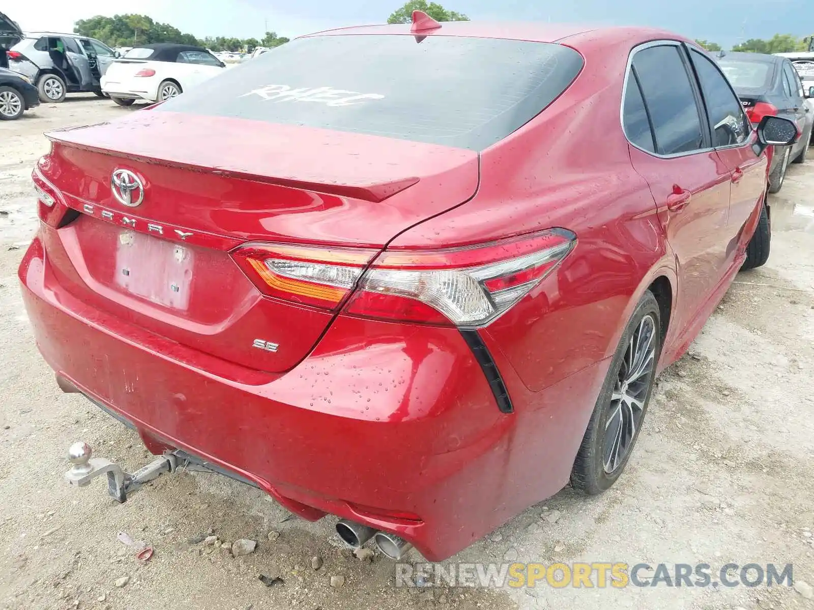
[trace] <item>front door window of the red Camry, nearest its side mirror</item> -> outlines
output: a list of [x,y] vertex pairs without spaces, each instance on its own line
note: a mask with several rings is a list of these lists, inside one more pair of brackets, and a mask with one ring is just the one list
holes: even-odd
[[706,55],[691,49],[689,56],[693,60],[707,107],[712,146],[734,146],[746,142],[751,133],[751,123],[732,87]]

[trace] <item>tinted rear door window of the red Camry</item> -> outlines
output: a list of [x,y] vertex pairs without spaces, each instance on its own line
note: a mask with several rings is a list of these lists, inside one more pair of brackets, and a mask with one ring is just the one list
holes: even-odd
[[653,123],[659,155],[679,155],[704,148],[701,116],[679,46],[650,46],[633,56]]

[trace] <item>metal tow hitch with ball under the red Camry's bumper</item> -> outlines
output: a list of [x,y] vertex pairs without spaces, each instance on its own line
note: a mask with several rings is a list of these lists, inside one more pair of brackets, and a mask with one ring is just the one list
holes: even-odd
[[160,474],[174,473],[179,461],[184,466],[189,464],[186,456],[178,455],[180,451],[170,451],[131,474],[125,473],[119,464],[111,460],[90,457],[92,453],[93,450],[88,443],[73,443],[68,449],[68,460],[73,466],[65,473],[65,479],[71,485],[84,487],[94,478],[107,474],[107,493],[112,495],[116,502],[126,502],[131,491],[137,490],[139,486],[152,481]]

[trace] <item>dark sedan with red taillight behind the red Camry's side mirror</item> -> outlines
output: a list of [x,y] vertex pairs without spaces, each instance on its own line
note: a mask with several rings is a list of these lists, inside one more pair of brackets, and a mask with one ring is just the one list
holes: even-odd
[[777,193],[791,163],[806,160],[808,143],[812,138],[814,111],[807,98],[812,91],[803,90],[803,82],[794,65],[785,57],[759,53],[730,53],[721,51],[715,59],[741,98],[746,115],[753,125],[766,115],[783,116],[793,120],[802,136],[791,146],[776,146],[769,168],[768,192]]

